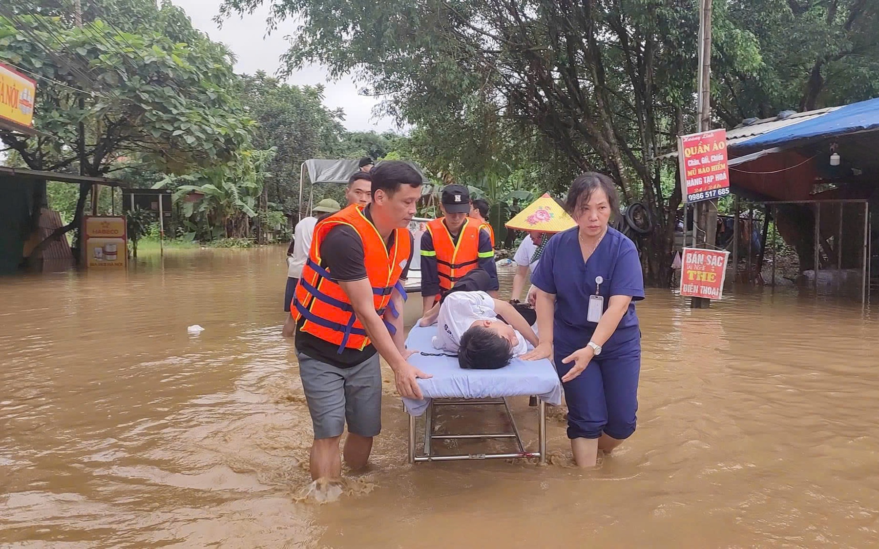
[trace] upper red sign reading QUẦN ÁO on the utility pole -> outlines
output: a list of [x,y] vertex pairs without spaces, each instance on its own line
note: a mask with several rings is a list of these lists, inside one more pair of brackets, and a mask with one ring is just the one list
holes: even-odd
[[685,202],[716,199],[730,194],[726,130],[680,136],[678,158]]

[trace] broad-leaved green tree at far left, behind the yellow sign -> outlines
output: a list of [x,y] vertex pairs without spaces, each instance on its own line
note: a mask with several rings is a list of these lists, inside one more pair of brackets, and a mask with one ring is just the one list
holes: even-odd
[[[89,176],[132,165],[183,173],[234,158],[253,122],[236,94],[231,54],[170,3],[105,5],[138,6],[130,31],[89,19],[89,11],[84,25],[74,25],[53,3],[29,15],[0,11],[0,59],[40,80],[40,134],[0,130],[7,149],[35,170],[78,167]],[[89,190],[80,185],[74,219],[41,246],[79,227]]]

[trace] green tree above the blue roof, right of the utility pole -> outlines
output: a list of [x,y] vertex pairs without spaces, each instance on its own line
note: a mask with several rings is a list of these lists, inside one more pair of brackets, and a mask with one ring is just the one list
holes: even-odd
[[[793,109],[810,111],[879,95],[879,4],[871,0],[761,0],[726,4],[748,29],[750,62],[723,63],[712,103],[728,126]],[[729,27],[723,33],[733,33]],[[731,36],[733,40],[735,35]]]

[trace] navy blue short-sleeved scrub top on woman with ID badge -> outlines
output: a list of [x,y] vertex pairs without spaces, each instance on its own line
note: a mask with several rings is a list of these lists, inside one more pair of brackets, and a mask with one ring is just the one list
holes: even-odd
[[584,263],[578,228],[570,228],[549,239],[531,282],[546,293],[556,294],[553,343],[561,356],[582,349],[592,338],[597,322],[586,320],[589,296],[595,293],[595,278],[603,278],[599,295],[604,310],[612,295],[628,295],[632,303],[614,335],[604,348],[613,350],[640,339],[635,301],[644,299],[644,279],[635,243],[614,228],[607,228],[598,248]]

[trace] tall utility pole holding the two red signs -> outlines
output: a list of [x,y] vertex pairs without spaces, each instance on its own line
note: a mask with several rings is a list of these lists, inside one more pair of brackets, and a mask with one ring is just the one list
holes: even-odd
[[[711,0],[699,4],[699,73],[698,73],[698,127],[697,131],[711,129]],[[686,206],[685,206],[686,207]],[[713,248],[717,236],[717,199],[696,203],[694,212],[694,239],[697,248]],[[684,228],[686,235],[686,227]],[[711,300],[691,298],[690,308],[707,309]]]

